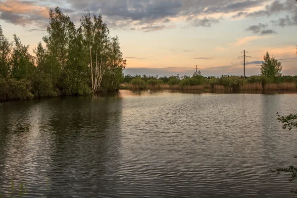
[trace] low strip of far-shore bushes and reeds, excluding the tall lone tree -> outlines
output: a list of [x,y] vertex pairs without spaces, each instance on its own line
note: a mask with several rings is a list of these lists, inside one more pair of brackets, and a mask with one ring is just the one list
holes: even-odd
[[[265,88],[268,89],[273,86],[275,88],[271,89],[281,89],[280,85],[282,84],[283,89],[295,90],[297,85],[297,76],[276,76],[269,78],[264,75],[254,75],[246,77],[246,80],[244,80],[243,76],[229,75],[222,75],[221,77],[204,77],[202,75],[193,75],[192,77],[165,76],[158,79],[154,76],[126,75],[123,83],[123,88],[128,89],[191,89],[190,87],[201,89],[202,87],[198,86],[203,86],[203,88],[207,89],[259,90]],[[284,86],[285,84],[288,86]]]

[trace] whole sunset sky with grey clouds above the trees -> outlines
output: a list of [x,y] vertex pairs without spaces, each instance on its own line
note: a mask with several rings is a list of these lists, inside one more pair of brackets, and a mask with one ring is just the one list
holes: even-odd
[[284,75],[297,75],[296,0],[0,0],[0,25],[30,51],[47,35],[58,6],[77,27],[85,10],[102,14],[127,59],[124,74],[204,76],[260,74],[269,51]]

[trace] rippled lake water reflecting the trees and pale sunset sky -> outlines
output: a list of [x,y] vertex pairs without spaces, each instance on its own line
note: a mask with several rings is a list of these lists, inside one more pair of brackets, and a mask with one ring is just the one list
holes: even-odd
[[296,164],[297,134],[275,117],[296,104],[130,91],[0,103],[0,191],[12,177],[27,197],[290,197],[297,183],[269,169]]

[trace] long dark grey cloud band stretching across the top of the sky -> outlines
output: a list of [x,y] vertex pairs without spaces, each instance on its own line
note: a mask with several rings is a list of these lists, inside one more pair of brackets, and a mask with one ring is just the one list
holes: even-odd
[[[269,15],[270,13],[288,10],[289,3],[275,0],[266,6],[265,10],[249,13],[248,10],[256,6],[265,5],[270,0],[55,0],[54,3],[62,11],[79,21],[85,9],[92,14],[102,13],[103,19],[112,28],[126,30],[142,30],[145,32],[174,28],[174,20],[170,18],[187,18],[188,26],[211,27],[219,23],[221,18],[213,18],[211,14],[227,14],[238,12],[236,16]],[[289,2],[289,0],[287,0]],[[3,3],[2,3],[3,2]],[[48,6],[44,1],[2,0],[1,4],[11,6],[11,2],[18,2],[18,7],[30,5],[27,12],[20,13],[18,9],[1,9],[0,18],[14,23],[27,24],[37,20],[39,24],[48,21],[44,11]],[[292,4],[292,3],[291,3]],[[67,6],[66,6],[67,5]],[[65,7],[65,8],[63,8]],[[43,9],[45,8],[45,9]],[[5,13],[6,11],[6,13]],[[35,17],[36,16],[36,17]],[[291,19],[292,20],[292,19]],[[283,24],[293,24],[286,22]]]

